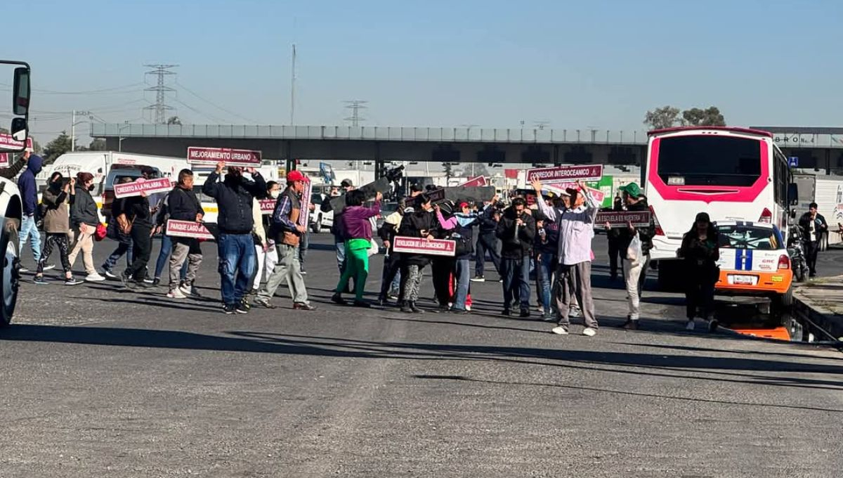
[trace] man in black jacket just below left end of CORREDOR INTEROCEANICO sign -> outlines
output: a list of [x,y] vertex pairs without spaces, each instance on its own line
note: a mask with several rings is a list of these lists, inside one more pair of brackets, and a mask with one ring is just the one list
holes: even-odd
[[501,239],[501,276],[503,278],[503,314],[509,315],[509,304],[518,287],[521,317],[529,317],[529,259],[533,254],[535,220],[526,211],[524,198],[513,199],[497,223],[497,239]]

